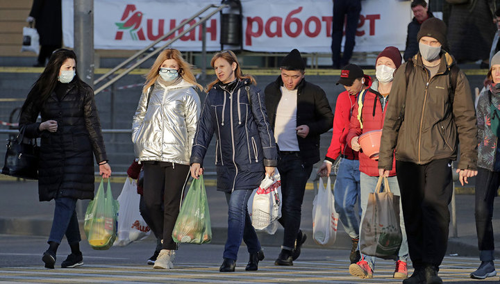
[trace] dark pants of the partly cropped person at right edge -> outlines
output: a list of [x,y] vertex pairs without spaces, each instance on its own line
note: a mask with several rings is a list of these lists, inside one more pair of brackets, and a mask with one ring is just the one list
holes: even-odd
[[493,242],[493,201],[497,196],[500,185],[500,172],[490,172],[478,168],[476,177],[476,232],[481,261],[490,261],[494,258]]

